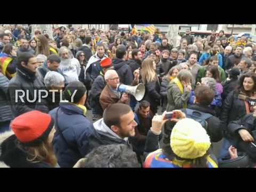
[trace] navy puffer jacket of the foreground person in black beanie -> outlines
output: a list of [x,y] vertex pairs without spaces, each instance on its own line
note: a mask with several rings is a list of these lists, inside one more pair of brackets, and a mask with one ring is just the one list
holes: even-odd
[[73,167],[87,154],[89,145],[87,138],[94,130],[93,124],[86,118],[85,111],[81,107],[72,103],[60,103],[60,107],[49,112],[55,121],[55,126],[58,109],[58,127],[69,144],[56,131],[53,138],[54,152],[60,167]]

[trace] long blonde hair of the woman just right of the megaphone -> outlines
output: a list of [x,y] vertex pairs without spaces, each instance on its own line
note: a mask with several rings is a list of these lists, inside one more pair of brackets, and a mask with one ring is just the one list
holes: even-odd
[[153,67],[153,62],[153,59],[147,58],[141,64],[141,79],[144,84],[157,80],[157,75]]

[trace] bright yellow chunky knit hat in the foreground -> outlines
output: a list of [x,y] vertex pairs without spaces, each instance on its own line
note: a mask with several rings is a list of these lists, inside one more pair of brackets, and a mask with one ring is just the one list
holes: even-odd
[[171,148],[181,158],[202,157],[210,145],[209,135],[194,119],[181,119],[172,129]]

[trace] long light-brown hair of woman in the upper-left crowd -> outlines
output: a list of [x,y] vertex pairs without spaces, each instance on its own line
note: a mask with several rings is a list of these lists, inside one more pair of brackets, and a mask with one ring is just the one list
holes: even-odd
[[44,35],[38,35],[36,48],[36,55],[43,54],[48,57],[50,54],[56,54]]

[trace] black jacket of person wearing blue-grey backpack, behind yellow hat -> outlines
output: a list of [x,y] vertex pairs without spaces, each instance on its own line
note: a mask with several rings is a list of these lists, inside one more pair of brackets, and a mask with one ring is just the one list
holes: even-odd
[[[203,113],[209,113],[213,115],[209,119],[206,119],[206,122],[208,124],[207,126],[207,134],[209,134],[211,142],[218,142],[222,139],[222,127],[221,127],[221,122],[220,119],[215,117],[215,111],[211,109],[210,107],[207,106],[201,106],[198,104],[195,105],[190,105],[188,106],[188,109],[192,110],[198,110]],[[182,109],[182,111],[185,111]]]

